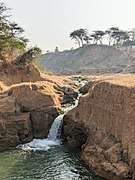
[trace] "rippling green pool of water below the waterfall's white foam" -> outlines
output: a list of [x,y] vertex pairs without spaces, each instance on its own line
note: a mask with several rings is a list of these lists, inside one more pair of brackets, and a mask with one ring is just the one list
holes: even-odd
[[100,180],[65,145],[0,153],[0,180]]

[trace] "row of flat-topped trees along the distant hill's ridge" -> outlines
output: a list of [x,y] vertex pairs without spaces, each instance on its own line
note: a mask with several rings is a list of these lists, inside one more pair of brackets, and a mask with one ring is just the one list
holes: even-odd
[[118,27],[112,27],[105,31],[97,30],[91,34],[87,29],[78,29],[70,33],[70,38],[83,47],[87,44],[106,44],[113,46],[125,46],[132,48],[135,46],[135,29],[131,31],[121,30]]

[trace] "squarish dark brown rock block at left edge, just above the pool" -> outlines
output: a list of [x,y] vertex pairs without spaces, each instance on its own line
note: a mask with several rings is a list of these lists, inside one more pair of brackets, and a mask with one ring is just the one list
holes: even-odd
[[31,141],[33,138],[30,114],[2,115],[0,150],[15,147],[20,143]]

